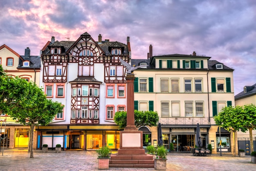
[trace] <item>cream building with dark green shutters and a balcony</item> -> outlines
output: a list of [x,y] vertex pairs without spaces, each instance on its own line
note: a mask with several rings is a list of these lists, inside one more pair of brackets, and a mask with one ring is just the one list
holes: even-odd
[[[190,151],[195,147],[199,123],[202,147],[211,144],[213,153],[217,153],[221,139],[226,142],[222,152],[231,153],[233,137],[227,132],[219,134],[213,116],[222,107],[234,105],[234,70],[195,52],[152,57],[151,45],[150,48],[148,59],[132,59],[131,63],[148,65],[134,71],[135,109],[158,112],[163,144],[168,149],[171,142],[175,151]],[[157,128],[149,129],[151,143],[157,142]]]

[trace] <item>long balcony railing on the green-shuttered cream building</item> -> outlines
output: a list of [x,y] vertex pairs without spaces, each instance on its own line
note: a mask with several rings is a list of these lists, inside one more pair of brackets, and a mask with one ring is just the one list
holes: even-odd
[[159,118],[162,125],[210,125],[208,117],[168,117]]

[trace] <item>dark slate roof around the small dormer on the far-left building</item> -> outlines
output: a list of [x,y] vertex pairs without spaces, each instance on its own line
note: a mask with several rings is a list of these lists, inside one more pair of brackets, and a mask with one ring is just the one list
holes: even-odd
[[[40,56],[30,56],[30,57],[25,57],[25,56],[20,56],[22,59],[19,59],[19,65],[17,69],[25,69],[25,68],[34,68],[34,69],[39,69],[41,67],[41,60]],[[30,61],[30,66],[23,66],[22,61]]]

